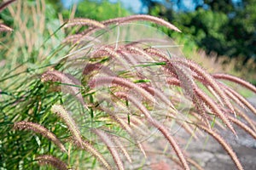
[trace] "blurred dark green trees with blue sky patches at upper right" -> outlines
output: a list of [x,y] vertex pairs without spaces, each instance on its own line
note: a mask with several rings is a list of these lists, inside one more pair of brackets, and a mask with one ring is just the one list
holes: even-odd
[[164,17],[192,35],[207,53],[242,57],[244,63],[256,61],[256,0],[196,0],[193,8],[186,7],[185,0],[142,3],[148,14]]

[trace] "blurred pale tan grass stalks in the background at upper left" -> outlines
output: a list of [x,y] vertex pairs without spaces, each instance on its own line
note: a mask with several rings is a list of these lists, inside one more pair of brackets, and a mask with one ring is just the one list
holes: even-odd
[[[18,88],[12,82],[24,81],[26,73],[37,73],[55,62],[55,53],[63,55],[64,31],[55,9],[44,0],[7,1],[0,15],[12,31],[1,32],[1,88]],[[6,4],[6,3],[3,3]],[[44,63],[44,65],[42,65]],[[17,77],[16,75],[22,75]],[[9,77],[12,77],[9,79]],[[19,85],[18,85],[19,86]]]

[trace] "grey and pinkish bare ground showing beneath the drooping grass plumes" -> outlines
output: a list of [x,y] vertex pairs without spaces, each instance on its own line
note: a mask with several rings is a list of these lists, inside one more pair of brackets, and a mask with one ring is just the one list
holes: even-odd
[[[250,103],[256,106],[256,95],[253,98],[248,99]],[[256,116],[253,113],[248,112],[248,116],[256,122]],[[240,127],[236,127],[236,133],[238,138],[230,131],[223,129],[218,129],[219,133],[224,137],[224,139],[231,145],[232,149],[236,152],[242,166],[245,170],[256,170],[256,140],[250,135],[241,130]],[[176,138],[189,139],[188,133],[185,133],[181,129]],[[163,142],[163,141],[162,141]],[[154,144],[154,145],[165,145]],[[183,148],[184,145],[181,145]],[[150,147],[146,150],[151,150]],[[206,170],[235,170],[237,169],[234,162],[230,159],[230,156],[223,149],[223,147],[216,142],[212,137],[204,137],[197,141],[193,141],[189,144],[188,149],[185,151],[190,158],[198,162],[203,169]],[[143,166],[145,169],[154,170],[180,170],[176,164],[173,165],[173,161],[166,159],[166,157],[160,157],[159,155],[149,155],[148,163],[146,162]],[[147,166],[148,165],[148,166]],[[133,167],[131,169],[138,169]],[[192,168],[195,169],[195,168]]]

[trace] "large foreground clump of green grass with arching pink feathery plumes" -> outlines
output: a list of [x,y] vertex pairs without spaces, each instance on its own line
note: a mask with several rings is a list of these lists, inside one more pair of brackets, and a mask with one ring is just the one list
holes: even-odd
[[17,82],[20,88],[5,82],[0,167],[138,169],[154,163],[155,150],[165,153],[171,167],[201,169],[184,150],[189,139],[176,135],[183,129],[195,143],[212,136],[243,169],[217,129],[237,136],[241,128],[255,139],[255,122],[244,109],[255,116],[256,108],[232,84],[252,93],[256,88],[238,77],[208,73],[156,28],[141,24],[146,22],[180,31],[148,15],[65,21],[63,50],[53,53],[59,59],[37,54],[42,64]]

